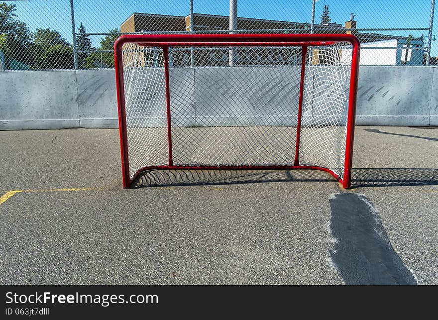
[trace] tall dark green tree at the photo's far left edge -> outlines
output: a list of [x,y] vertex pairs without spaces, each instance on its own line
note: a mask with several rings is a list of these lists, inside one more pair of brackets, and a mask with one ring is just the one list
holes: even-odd
[[27,65],[33,63],[32,33],[24,22],[16,18],[15,10],[15,4],[0,2],[0,51],[6,57],[6,68],[9,59]]

